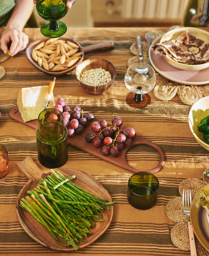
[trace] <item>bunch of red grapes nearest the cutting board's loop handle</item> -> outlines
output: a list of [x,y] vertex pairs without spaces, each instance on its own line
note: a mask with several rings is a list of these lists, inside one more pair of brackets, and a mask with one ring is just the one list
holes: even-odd
[[117,157],[120,150],[131,146],[132,138],[136,134],[133,128],[125,128],[122,123],[120,117],[114,117],[111,126],[107,126],[106,120],[94,121],[91,123],[91,129],[94,132],[86,134],[85,140],[95,147],[104,144],[100,150],[103,156],[111,154],[111,156]]

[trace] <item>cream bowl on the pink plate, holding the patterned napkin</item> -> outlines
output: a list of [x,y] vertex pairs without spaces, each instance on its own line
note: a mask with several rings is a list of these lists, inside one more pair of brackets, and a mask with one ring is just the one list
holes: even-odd
[[[176,28],[165,33],[160,39],[160,43],[169,42],[175,38],[177,38],[182,32],[189,31],[197,38],[203,40],[204,42],[209,42],[209,33],[203,29],[192,28],[192,27],[182,27]],[[164,59],[173,67],[179,68],[181,70],[203,70],[209,67],[209,62],[197,65],[189,65],[177,62],[170,58],[169,56],[165,56]]]

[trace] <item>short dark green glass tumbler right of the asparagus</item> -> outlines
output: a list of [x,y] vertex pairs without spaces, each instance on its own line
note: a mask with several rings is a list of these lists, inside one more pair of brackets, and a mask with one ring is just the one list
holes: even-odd
[[139,172],[128,180],[128,202],[135,208],[145,210],[157,202],[158,179],[151,173]]

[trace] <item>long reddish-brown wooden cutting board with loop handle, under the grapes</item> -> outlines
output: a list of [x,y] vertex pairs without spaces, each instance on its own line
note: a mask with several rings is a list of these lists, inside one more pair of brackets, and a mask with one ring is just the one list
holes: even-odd
[[[22,117],[21,117],[21,114],[19,113],[17,105],[10,111],[9,116],[12,119],[14,119],[14,120],[16,120],[16,121],[18,121],[18,122],[20,122],[24,125],[27,125],[28,127],[31,127],[33,129],[37,129],[37,127],[38,127],[38,120],[32,120],[32,121],[28,121],[28,122],[24,122],[22,120]],[[100,121],[100,120],[94,118],[94,121]],[[100,158],[104,161],[107,161],[107,162],[112,163],[116,166],[124,168],[125,170],[131,171],[133,173],[137,173],[138,171],[142,171],[142,170],[138,170],[136,168],[133,168],[132,166],[130,166],[127,163],[127,161],[126,161],[126,152],[130,147],[125,147],[124,149],[122,149],[120,151],[118,157],[113,157],[111,155],[103,156],[100,153],[100,148],[96,148],[95,146],[92,145],[92,143],[88,143],[85,140],[85,135],[88,132],[92,132],[90,124],[91,124],[91,122],[89,122],[87,127],[84,128],[84,131],[83,131],[82,134],[80,134],[80,135],[76,134],[72,138],[69,137],[68,138],[68,144],[71,145],[71,146],[77,147],[78,149],[80,149],[82,151],[85,151],[89,154],[92,154],[93,156],[96,156],[96,157],[98,157],[98,158]],[[155,143],[153,143],[151,141],[148,141],[147,139],[144,139],[141,136],[136,135],[133,138],[131,146],[141,145],[141,144],[151,146],[155,150],[157,150],[157,152],[159,153],[159,156],[160,156],[159,164],[151,170],[146,170],[147,172],[152,173],[152,174],[157,173],[164,166],[164,163],[165,163],[164,152],[162,151],[161,147],[159,147]]]

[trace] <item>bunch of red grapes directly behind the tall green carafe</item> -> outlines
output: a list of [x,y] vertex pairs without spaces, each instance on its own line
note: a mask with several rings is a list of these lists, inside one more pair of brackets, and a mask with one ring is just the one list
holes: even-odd
[[75,134],[81,134],[87,126],[88,121],[94,120],[94,115],[84,113],[81,107],[75,105],[72,109],[65,105],[65,100],[62,97],[56,99],[54,109],[59,110],[63,114],[63,122],[67,127],[67,135],[73,137]]

